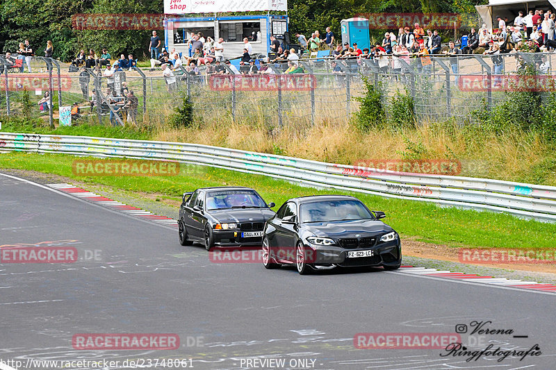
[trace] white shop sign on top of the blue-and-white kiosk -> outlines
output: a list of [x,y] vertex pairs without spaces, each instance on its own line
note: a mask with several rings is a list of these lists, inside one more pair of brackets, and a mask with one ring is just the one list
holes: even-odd
[[286,11],[288,0],[164,0],[165,14]]

